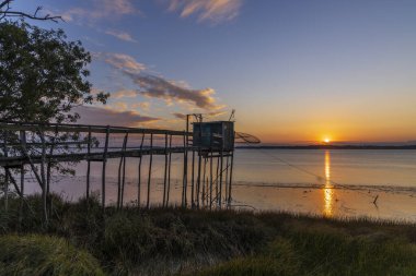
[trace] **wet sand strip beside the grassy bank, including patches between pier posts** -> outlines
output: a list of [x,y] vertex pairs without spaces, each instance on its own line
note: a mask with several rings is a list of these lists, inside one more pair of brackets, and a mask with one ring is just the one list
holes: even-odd
[[[127,179],[125,202],[137,204],[137,180]],[[117,180],[107,179],[106,203],[116,200]],[[85,194],[84,177],[55,179],[51,190],[66,200],[76,201]],[[38,192],[36,183],[28,185],[27,193]],[[92,178],[92,192],[100,194],[101,180]],[[172,180],[172,205],[181,204],[182,181]],[[416,221],[416,189],[406,187],[350,185],[333,187],[319,184],[270,184],[235,182],[233,184],[234,208],[253,211],[285,211],[326,217],[370,217],[372,219]],[[146,204],[147,179],[141,184],[141,204]],[[150,203],[158,205],[163,195],[163,180],[153,179]],[[190,201],[190,187],[188,201]],[[374,203],[374,200],[377,201]]]

